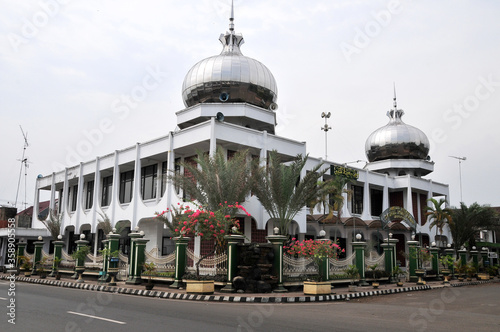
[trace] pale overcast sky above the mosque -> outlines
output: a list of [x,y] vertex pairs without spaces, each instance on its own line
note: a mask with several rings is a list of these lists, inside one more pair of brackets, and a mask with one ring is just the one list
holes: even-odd
[[[0,204],[16,198],[20,125],[28,133],[29,205],[38,174],[174,130],[184,76],[220,53],[230,14],[230,0],[0,4]],[[403,120],[431,141],[435,171],[427,178],[448,183],[458,205],[459,165],[449,156],[466,157],[465,203],[500,206],[498,1],[234,6],[243,54],[264,63],[277,81],[278,135],[306,141],[310,155],[322,157],[321,113],[331,112],[328,159],[366,160],[365,141],[388,122],[395,82]],[[148,75],[155,80],[145,90]],[[146,91],[140,102],[117,112],[137,91]]]

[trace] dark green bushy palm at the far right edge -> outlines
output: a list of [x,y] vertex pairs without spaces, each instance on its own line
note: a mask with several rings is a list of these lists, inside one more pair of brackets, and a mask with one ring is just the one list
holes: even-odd
[[473,203],[467,206],[460,203],[460,207],[452,209],[453,224],[451,235],[455,249],[462,246],[473,246],[476,244],[477,233],[482,229],[498,229],[498,214],[488,205]]

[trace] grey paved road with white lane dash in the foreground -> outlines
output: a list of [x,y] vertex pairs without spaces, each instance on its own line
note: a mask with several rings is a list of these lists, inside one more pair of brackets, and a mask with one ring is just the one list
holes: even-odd
[[200,303],[16,283],[16,325],[0,331],[500,331],[500,285],[402,293],[349,302]]

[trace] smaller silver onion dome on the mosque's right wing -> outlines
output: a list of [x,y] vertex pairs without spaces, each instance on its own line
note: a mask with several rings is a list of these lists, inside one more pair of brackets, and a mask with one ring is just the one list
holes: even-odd
[[403,114],[395,105],[393,110],[387,112],[389,123],[368,137],[365,144],[368,161],[427,159],[429,139],[420,129],[404,123],[401,119]]

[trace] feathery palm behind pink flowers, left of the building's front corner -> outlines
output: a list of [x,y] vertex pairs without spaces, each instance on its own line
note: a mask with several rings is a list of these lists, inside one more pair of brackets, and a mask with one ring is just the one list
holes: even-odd
[[[184,174],[173,173],[169,178],[192,200],[203,208],[215,211],[221,203],[241,203],[252,187],[251,162],[247,161],[248,151],[238,151],[226,158],[224,150],[217,148],[213,157],[197,152],[194,163],[182,162]],[[226,205],[227,206],[227,205]],[[234,214],[237,209],[226,211]]]

